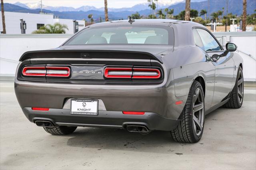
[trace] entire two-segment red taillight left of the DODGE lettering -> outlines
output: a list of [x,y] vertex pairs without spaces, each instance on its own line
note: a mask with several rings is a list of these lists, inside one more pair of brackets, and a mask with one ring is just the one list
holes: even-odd
[[41,76],[41,77],[69,77],[69,67],[55,66],[28,66],[22,69],[24,76]]

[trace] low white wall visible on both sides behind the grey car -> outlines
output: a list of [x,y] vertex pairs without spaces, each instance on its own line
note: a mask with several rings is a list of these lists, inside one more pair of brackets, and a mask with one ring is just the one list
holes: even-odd
[[[14,76],[18,59],[24,52],[56,48],[72,35],[0,34],[0,75]],[[226,42],[238,45],[238,50],[240,50],[238,52],[244,59],[244,80],[256,81],[256,32],[215,32],[214,35],[222,45]]]

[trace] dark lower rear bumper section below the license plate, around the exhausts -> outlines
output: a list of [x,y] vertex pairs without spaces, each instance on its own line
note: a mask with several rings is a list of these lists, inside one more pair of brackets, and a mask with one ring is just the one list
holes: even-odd
[[59,126],[126,128],[127,125],[143,125],[150,130],[172,130],[179,120],[168,119],[156,113],[124,115],[120,111],[98,111],[98,115],[71,115],[70,109],[35,111],[22,109],[29,121],[50,121]]

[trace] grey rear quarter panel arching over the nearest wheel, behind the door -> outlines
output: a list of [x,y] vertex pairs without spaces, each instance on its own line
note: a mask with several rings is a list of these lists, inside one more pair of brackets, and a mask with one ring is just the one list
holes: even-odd
[[205,82],[205,108],[210,108],[214,94],[215,66],[199,47],[176,48],[163,58],[173,68],[175,96],[187,96],[196,77]]

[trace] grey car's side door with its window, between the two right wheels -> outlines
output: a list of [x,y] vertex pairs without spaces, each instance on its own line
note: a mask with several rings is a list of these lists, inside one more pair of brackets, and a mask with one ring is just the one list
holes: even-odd
[[[222,46],[208,30],[201,28],[197,28],[196,30],[202,40],[204,50],[209,57],[212,57],[214,54],[220,55],[224,52]],[[233,88],[232,81],[234,75],[234,60],[232,59],[232,55],[230,55],[230,53],[228,53],[228,55],[225,57],[220,57],[218,61],[212,62],[215,65],[215,81],[211,107],[227,99],[230,91]]]

